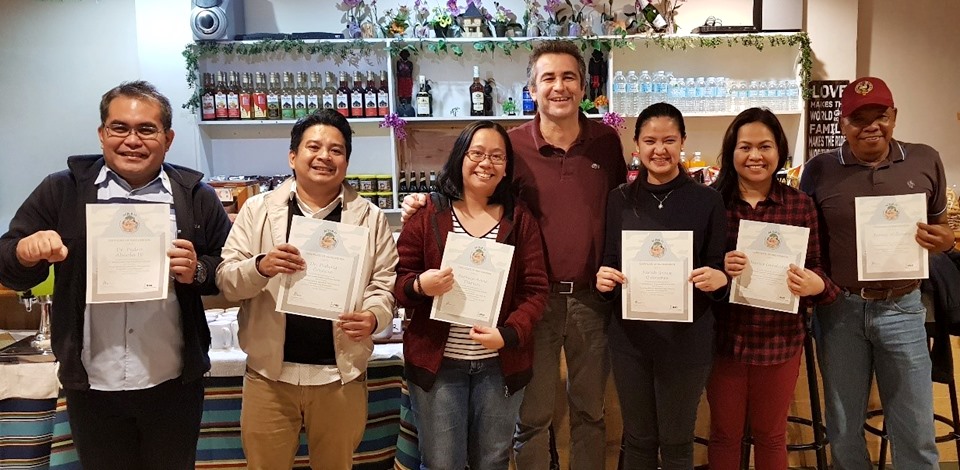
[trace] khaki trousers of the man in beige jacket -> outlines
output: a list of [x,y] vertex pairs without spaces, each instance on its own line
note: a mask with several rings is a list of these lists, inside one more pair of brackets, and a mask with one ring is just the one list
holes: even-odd
[[253,470],[289,470],[307,431],[313,470],[349,470],[367,423],[365,377],[346,385],[292,385],[247,369],[240,440]]

